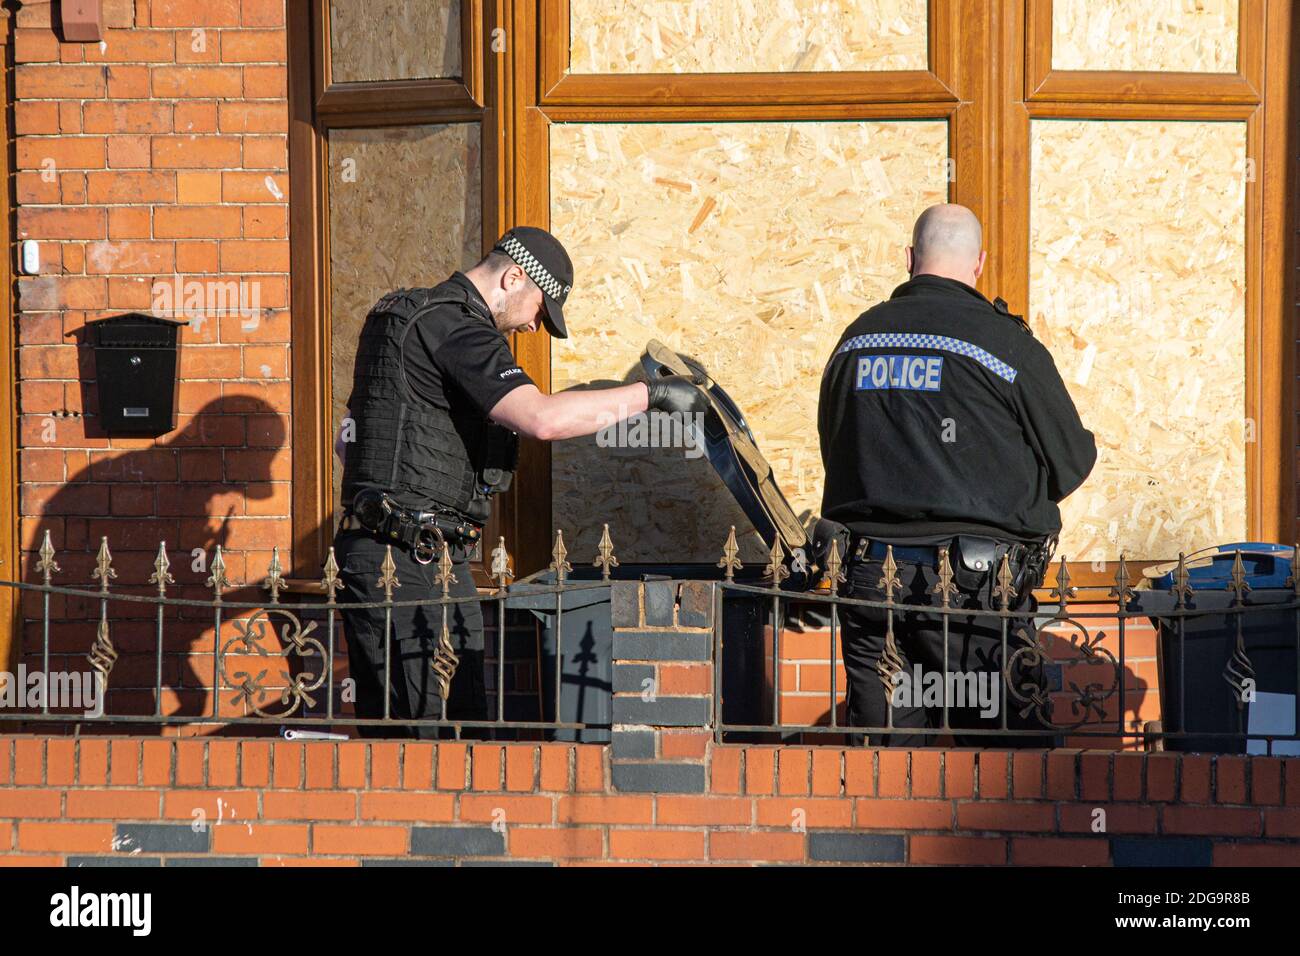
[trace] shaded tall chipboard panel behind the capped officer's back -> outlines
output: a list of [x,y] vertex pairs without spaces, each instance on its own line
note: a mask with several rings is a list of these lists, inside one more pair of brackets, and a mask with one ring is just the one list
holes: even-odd
[[[478,137],[477,124],[329,131],[333,434],[370,306],[394,289],[437,285],[478,261]],[[338,501],[342,470],[334,472]]]

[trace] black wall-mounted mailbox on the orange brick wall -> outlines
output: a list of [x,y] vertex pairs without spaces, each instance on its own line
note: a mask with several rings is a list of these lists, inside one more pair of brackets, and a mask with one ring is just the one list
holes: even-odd
[[177,334],[185,325],[142,312],[87,323],[95,347],[99,418],[110,434],[164,434],[176,428]]

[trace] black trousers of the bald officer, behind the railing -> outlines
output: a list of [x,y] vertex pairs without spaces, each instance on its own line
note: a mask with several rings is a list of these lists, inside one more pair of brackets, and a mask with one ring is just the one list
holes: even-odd
[[[941,598],[932,593],[939,581],[939,572],[935,567],[919,564],[911,561],[896,559],[898,564],[898,579],[901,588],[894,589],[894,601],[904,605],[920,607],[940,606]],[[884,601],[884,589],[879,587],[884,575],[883,562],[867,559],[854,562],[849,567],[848,580],[841,585],[841,594],[864,601]],[[968,611],[996,607],[992,602],[992,583],[989,575],[983,575],[984,583],[979,588],[962,589],[952,598],[952,606]],[[1028,591],[1028,589],[1026,589]],[[1017,597],[1011,610],[1032,611],[1036,609],[1032,593]],[[1052,747],[1053,737],[1043,734],[1024,736],[992,735],[992,734],[962,734],[962,730],[982,728],[997,730],[1002,727],[1002,715],[1006,717],[1006,727],[1013,730],[1039,730],[1044,724],[1039,717],[1048,713],[1046,709],[1031,710],[1022,717],[1020,710],[1026,701],[1017,700],[1011,687],[1018,688],[1022,696],[1031,697],[1037,692],[1046,696],[1043,680],[1043,661],[1037,654],[1022,652],[1034,637],[1034,619],[1031,617],[1014,618],[1008,622],[1006,654],[1011,659],[1011,679],[1005,680],[1002,675],[1002,627],[996,617],[975,617],[974,614],[954,614],[948,623],[948,674],[956,676],[949,680],[944,678],[944,622],[940,614],[926,614],[918,611],[893,611],[894,644],[906,680],[896,685],[897,689],[887,689],[876,663],[885,650],[887,615],[889,611],[878,607],[841,607],[844,622],[844,665],[848,674],[848,718],[850,726],[858,727],[898,727],[901,732],[850,735],[854,745],[861,745],[866,736],[870,736],[872,745],[887,747],[935,747],[939,735],[935,734],[909,734],[907,730],[916,727],[941,727],[942,706],[933,706],[933,700],[942,700],[937,688],[948,691],[948,726],[953,730],[953,739],[958,747]],[[920,667],[922,682],[915,682],[916,666]],[[980,674],[984,676],[982,678]],[[933,675],[933,676],[931,676]],[[933,682],[931,700],[926,701],[923,691],[926,683]],[[941,682],[941,683],[940,683]],[[1005,711],[1004,711],[1004,685]],[[958,691],[958,687],[961,689]],[[971,688],[983,687],[984,701],[996,698],[996,711],[982,715],[989,708],[980,704],[978,692],[971,693]],[[887,723],[893,702],[893,723]],[[931,706],[924,706],[930,702]]]

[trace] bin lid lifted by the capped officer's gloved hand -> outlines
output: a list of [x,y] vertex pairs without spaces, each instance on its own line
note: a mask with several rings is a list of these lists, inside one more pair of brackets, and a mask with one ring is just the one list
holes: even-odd
[[668,346],[650,339],[641,367],[651,380],[668,375],[690,376],[708,398],[705,412],[705,454],[723,484],[734,496],[754,529],[768,549],[777,537],[786,563],[807,567],[809,538],[794,510],[776,484],[772,466],[758,450],[753,432],[740,407],[698,362],[692,362]]

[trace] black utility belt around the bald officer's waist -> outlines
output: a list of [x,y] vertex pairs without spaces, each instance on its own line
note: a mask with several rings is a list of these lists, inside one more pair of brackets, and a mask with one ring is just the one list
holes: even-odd
[[[884,561],[890,548],[887,541],[854,535],[842,524],[820,519],[814,531],[814,551],[820,567],[826,567],[824,558],[829,553],[832,540],[837,542],[840,553],[848,555],[845,563],[850,567],[868,559]],[[894,561],[906,561],[936,570],[939,568],[940,551],[946,548],[953,580],[963,591],[979,591],[991,581],[996,581],[1005,557],[1011,572],[1011,587],[1018,596],[1022,596],[1043,584],[1056,545],[1056,535],[1032,544],[998,540],[983,535],[954,535],[949,541],[935,545],[892,545],[892,548]]]

